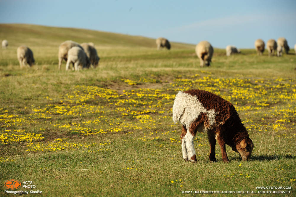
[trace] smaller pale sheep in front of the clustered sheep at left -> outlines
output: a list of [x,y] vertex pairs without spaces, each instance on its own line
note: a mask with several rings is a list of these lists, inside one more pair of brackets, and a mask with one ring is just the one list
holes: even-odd
[[91,64],[89,58],[80,47],[72,47],[69,49],[66,71],[69,70],[70,63],[73,64],[75,71],[79,71],[80,67],[89,68]]

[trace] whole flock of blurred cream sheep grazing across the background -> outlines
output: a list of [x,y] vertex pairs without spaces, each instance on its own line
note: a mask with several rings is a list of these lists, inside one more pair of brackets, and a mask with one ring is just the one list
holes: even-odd
[[[160,47],[165,47],[170,49],[170,42],[165,38],[157,38],[156,39],[157,49]],[[8,41],[2,41],[2,48],[7,48]],[[285,38],[279,38],[277,41],[274,39],[270,39],[267,41],[266,48],[268,50],[268,55],[277,54],[278,57],[282,56],[282,51],[285,49],[285,52],[289,53],[289,45]],[[265,49],[265,43],[262,39],[258,39],[255,41],[255,49],[258,55],[263,55]],[[296,44],[294,46],[296,53]],[[210,62],[213,57],[214,49],[212,45],[208,41],[201,41],[195,47],[195,53],[197,57],[200,59],[200,66],[210,66]],[[226,47],[226,56],[230,56],[234,53],[240,53],[239,49],[235,46],[228,45]],[[59,45],[59,69],[61,69],[62,60],[65,60],[66,70],[69,70],[70,64],[73,64],[73,70],[78,71],[82,68],[89,68],[92,66],[96,68],[99,63],[99,56],[96,52],[94,44],[90,43],[82,43],[78,44],[77,42],[68,40]],[[20,67],[24,67],[25,65],[32,66],[35,63],[32,50],[22,45],[17,48],[17,59],[20,62]]]

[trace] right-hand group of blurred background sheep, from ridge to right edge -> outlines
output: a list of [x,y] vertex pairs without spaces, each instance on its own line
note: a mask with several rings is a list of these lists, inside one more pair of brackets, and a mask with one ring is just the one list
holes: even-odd
[[[170,49],[170,43],[165,38],[157,38],[156,44],[157,49],[160,49],[160,47]],[[277,42],[274,39],[270,39],[267,41],[266,47],[269,56],[275,55],[276,53],[278,57],[281,57],[283,49],[285,49],[285,52],[287,54],[290,50],[288,42],[285,38],[279,38]],[[265,43],[262,39],[258,39],[255,41],[255,49],[258,55],[263,55]],[[294,45],[294,50],[296,54],[296,44]],[[214,49],[208,41],[201,41],[196,45],[195,53],[197,57],[200,59],[200,66],[209,66],[213,57]],[[226,56],[230,56],[234,53],[240,53],[240,50],[237,49],[237,47],[235,46],[228,45],[226,47]]]

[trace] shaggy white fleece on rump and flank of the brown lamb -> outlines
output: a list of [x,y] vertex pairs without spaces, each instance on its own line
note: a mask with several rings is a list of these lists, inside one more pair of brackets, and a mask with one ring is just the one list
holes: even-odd
[[173,121],[180,123],[188,129],[192,122],[200,116],[200,113],[206,113],[209,119],[210,126],[215,122],[215,110],[207,110],[202,103],[197,99],[197,96],[186,94],[179,91],[176,95],[173,105]]

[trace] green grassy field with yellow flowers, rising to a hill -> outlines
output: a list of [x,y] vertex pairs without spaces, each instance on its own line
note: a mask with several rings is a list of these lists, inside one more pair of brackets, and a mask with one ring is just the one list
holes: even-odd
[[[5,193],[9,179],[36,185],[18,191],[42,191],[23,196],[296,195],[293,50],[279,58],[257,56],[255,49],[226,57],[214,49],[212,65],[200,68],[194,45],[157,51],[154,39],[140,36],[0,24],[0,39],[9,42],[0,50],[0,196],[15,196]],[[63,62],[59,71],[65,40],[94,42],[99,66],[66,72]],[[21,44],[34,53],[31,68],[20,69]],[[223,163],[217,144],[218,162],[210,163],[205,133],[194,140],[197,163],[183,161],[172,106],[187,89],[213,92],[235,106],[255,145],[249,161],[227,146],[230,162]]]

